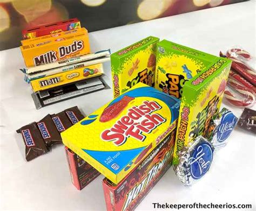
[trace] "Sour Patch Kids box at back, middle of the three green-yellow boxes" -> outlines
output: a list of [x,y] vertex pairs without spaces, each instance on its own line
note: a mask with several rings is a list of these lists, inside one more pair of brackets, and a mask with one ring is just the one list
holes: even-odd
[[181,99],[185,82],[215,59],[213,55],[164,39],[157,45],[155,88]]

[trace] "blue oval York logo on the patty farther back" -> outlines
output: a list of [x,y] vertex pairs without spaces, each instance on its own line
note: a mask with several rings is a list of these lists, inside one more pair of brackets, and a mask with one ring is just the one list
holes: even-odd
[[223,142],[232,132],[237,124],[237,117],[232,112],[227,112],[221,117],[220,125],[217,130],[217,141]]

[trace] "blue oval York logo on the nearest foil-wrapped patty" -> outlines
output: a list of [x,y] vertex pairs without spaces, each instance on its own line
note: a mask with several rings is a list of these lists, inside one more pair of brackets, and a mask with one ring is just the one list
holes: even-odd
[[207,141],[200,142],[188,159],[190,173],[193,179],[198,180],[209,170],[212,164],[213,148]]

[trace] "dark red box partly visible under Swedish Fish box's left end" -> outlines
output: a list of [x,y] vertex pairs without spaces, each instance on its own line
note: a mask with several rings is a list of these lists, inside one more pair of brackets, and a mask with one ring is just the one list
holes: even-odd
[[72,183],[78,190],[82,190],[100,175],[95,168],[87,164],[87,162],[80,158],[76,153],[72,152],[68,147],[65,147],[65,152],[66,158],[68,159]]

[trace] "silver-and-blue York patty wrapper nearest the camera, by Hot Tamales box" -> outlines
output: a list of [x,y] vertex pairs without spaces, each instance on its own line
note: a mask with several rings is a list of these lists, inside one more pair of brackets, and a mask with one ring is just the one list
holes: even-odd
[[204,137],[199,135],[187,147],[179,152],[179,164],[173,169],[184,186],[191,186],[202,178],[210,169],[214,148]]

